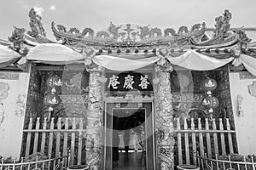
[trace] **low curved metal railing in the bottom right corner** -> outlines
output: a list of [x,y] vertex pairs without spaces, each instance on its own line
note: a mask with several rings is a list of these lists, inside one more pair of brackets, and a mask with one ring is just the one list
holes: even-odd
[[200,169],[206,170],[255,170],[255,156],[246,157],[239,155],[224,156],[225,160],[221,160],[218,156],[215,159],[205,156],[195,155],[195,165]]

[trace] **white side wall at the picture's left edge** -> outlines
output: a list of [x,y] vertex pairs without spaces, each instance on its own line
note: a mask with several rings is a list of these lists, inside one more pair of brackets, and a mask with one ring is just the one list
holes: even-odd
[[0,71],[0,82],[9,86],[7,98],[0,100],[3,103],[0,108],[3,115],[3,122],[0,121],[0,156],[20,156],[29,76],[27,72]]

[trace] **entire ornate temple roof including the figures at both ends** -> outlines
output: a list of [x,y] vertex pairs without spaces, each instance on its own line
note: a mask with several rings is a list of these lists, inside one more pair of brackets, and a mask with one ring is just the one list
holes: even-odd
[[[115,25],[110,22],[106,29],[94,31],[87,27],[83,31],[78,28],[67,29],[65,26],[56,25],[52,22],[51,28],[58,42],[50,41],[45,34],[42,18],[32,8],[29,12],[31,31],[24,28],[15,28],[9,37],[11,48],[20,54],[26,55],[27,50],[39,43],[61,43],[75,51],[82,53],[84,48],[92,47],[107,53],[138,53],[149,51],[155,53],[157,48],[168,48],[170,51],[183,52],[187,49],[197,49],[198,52],[214,50],[229,51],[230,48],[246,47],[249,50],[251,41],[242,29],[230,29],[232,15],[229,10],[215,18],[216,24],[212,37],[207,36],[207,26],[203,22],[188,28],[180,26],[177,31],[172,28],[160,29],[158,27],[139,25]],[[0,44],[8,44],[0,41]],[[225,48],[225,49],[224,49]],[[255,49],[251,50],[255,52]]]

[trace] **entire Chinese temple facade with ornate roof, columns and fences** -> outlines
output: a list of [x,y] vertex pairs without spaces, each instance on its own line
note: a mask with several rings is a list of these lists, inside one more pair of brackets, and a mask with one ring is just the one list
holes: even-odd
[[[205,23],[175,31],[110,22],[101,31],[79,31],[52,22],[56,42],[34,9],[29,17],[30,31],[15,28],[0,41],[3,156],[70,151],[73,165],[118,169],[113,147],[122,161],[125,133],[129,159],[137,153],[135,167],[148,170],[193,164],[195,152],[256,151],[253,135],[249,147],[242,138],[245,122],[255,119],[243,117],[243,100],[255,101],[256,48],[244,30],[230,28],[229,10],[212,32]],[[236,81],[246,87],[239,95]],[[15,150],[6,149],[10,140]]]

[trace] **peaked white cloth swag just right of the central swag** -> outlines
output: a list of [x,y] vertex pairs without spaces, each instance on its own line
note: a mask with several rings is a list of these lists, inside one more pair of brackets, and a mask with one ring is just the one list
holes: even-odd
[[179,65],[189,70],[210,71],[230,63],[234,58],[215,59],[204,54],[199,54],[195,50],[189,49],[185,54],[178,57],[168,57],[172,65]]

